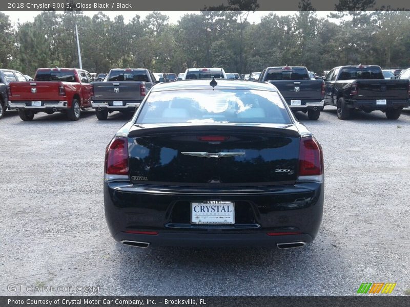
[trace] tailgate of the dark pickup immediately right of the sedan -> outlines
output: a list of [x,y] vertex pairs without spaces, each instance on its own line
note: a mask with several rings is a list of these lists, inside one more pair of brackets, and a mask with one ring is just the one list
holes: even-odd
[[322,80],[271,80],[286,100],[317,100],[322,98]]

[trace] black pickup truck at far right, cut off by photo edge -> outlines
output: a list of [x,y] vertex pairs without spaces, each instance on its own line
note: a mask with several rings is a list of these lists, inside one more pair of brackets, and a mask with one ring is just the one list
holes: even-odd
[[336,67],[325,78],[324,103],[336,106],[339,119],[348,119],[353,109],[380,110],[388,119],[398,119],[409,105],[409,94],[408,80],[385,80],[376,65]]

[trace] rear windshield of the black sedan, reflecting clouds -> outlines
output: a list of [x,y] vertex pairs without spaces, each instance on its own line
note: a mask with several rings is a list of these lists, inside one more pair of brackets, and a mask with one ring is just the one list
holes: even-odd
[[291,123],[278,93],[257,90],[152,92],[136,123]]

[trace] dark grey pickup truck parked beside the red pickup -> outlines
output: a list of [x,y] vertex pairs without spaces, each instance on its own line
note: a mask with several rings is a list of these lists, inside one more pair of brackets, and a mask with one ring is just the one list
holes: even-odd
[[134,112],[146,93],[158,83],[147,69],[112,69],[104,81],[93,82],[91,105],[99,120],[114,111]]

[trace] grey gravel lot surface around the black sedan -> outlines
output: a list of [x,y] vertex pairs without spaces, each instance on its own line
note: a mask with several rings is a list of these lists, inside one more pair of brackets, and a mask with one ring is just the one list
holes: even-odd
[[321,143],[325,208],[313,244],[296,250],[121,246],[103,205],[104,150],[130,117],[94,112],[0,120],[0,295],[9,284],[94,286],[43,295],[355,295],[362,282],[410,289],[410,111],[397,121],[327,106],[299,120]]

